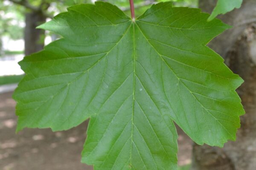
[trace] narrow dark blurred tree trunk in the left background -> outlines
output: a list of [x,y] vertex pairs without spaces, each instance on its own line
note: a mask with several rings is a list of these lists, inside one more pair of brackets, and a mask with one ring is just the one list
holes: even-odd
[[36,29],[37,26],[46,22],[46,17],[41,11],[31,11],[25,14],[25,54],[29,55],[44,48],[45,31]]

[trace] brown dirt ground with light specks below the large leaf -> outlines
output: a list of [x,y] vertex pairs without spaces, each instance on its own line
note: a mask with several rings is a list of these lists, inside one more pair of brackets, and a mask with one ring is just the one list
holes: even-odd
[[[62,132],[24,129],[15,134],[16,120],[12,93],[0,94],[0,170],[93,170],[80,163],[88,122]],[[177,130],[178,164],[189,164],[192,141]]]

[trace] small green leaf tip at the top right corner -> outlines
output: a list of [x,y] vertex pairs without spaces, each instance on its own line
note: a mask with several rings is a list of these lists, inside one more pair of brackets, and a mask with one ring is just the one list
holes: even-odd
[[208,21],[217,17],[218,14],[226,14],[234,8],[240,8],[243,0],[218,0],[217,5],[209,16]]

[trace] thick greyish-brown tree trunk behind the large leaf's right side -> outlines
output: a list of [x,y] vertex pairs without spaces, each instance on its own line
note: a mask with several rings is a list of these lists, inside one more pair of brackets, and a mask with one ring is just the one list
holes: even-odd
[[[217,0],[199,0],[210,13]],[[192,170],[256,170],[256,0],[244,0],[241,8],[219,18],[234,26],[209,46],[224,57],[232,71],[244,79],[238,89],[246,114],[236,142],[224,148],[194,144]]]

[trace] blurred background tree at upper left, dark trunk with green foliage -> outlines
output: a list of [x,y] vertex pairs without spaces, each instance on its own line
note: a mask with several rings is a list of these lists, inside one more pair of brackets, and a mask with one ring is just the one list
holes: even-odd
[[[67,6],[73,5],[73,0],[6,0],[12,4],[6,8],[17,8],[18,12],[22,13],[25,18],[24,41],[25,41],[25,55],[29,55],[40,51],[44,48],[45,31],[36,29],[37,26],[45,23],[47,18],[52,18],[55,13],[64,11]],[[77,0],[77,3],[87,3],[90,0]],[[3,3],[3,0],[2,2]],[[49,8],[52,8],[49,10]],[[15,11],[16,13],[16,11]],[[5,22],[6,23],[6,22]],[[17,31],[15,34],[20,34]]]

